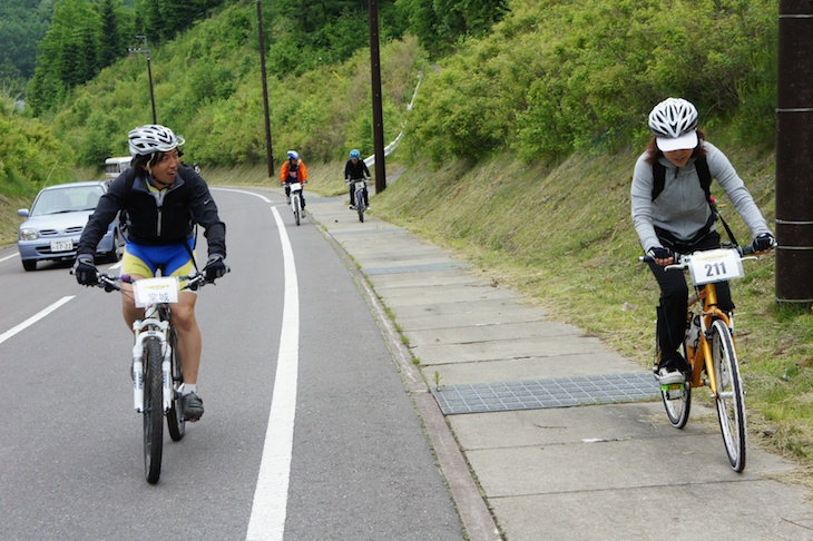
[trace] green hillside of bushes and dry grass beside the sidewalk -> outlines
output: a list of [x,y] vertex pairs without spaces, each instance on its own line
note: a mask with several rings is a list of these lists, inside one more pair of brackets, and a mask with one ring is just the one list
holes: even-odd
[[[432,3],[395,1],[415,21],[430,19],[419,16]],[[692,99],[709,140],[729,155],[771,223],[776,3],[500,3],[508,9],[488,36],[434,50],[421,32],[393,32],[382,43],[385,138],[404,125],[406,134],[389,164],[405,173],[374,196],[374,212],[460,250],[554,317],[647,365],[657,292],[636,260],[628,200],[646,114],[666,96]],[[158,120],[187,138],[185,159],[203,163],[213,183],[265,179],[253,7],[228,6],[153,55]],[[303,58],[311,68],[268,79],[274,154],[278,161],[296,148],[314,171],[312,189],[344,196],[347,150],[372,153],[369,55],[321,65],[306,51]],[[35,156],[42,139],[58,139],[82,166],[124,154],[127,130],[150,120],[147,89],[144,59],[121,60],[77,87],[58,111],[28,120],[22,148]],[[16,175],[32,186],[43,178],[41,169]],[[747,242],[738,218],[724,213]],[[752,443],[811,463],[813,315],[774,303],[773,272],[768,256],[734,289]]]

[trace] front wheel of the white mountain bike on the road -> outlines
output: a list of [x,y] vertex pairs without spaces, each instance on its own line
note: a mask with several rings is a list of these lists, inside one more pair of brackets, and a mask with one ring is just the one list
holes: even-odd
[[158,338],[147,338],[145,346],[144,377],[144,473],[147,482],[155,484],[160,476],[164,451],[164,385],[163,356]]

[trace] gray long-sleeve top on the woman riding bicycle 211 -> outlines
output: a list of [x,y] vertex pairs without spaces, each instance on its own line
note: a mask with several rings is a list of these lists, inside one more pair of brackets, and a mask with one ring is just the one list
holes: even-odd
[[[728,161],[728,158],[714,145],[702,141],[712,178],[716,178],[725,190],[734,208],[748,226],[753,236],[771,233],[760,208],[751,197],[743,179]],[[646,163],[644,153],[635,164],[633,187],[630,189],[633,224],[638,233],[645,252],[662,246],[655,227],[666,229],[678,239],[690,239],[708,222],[711,208],[706,194],[701,186],[694,158],[678,169],[664,156],[658,160],[666,167],[664,190],[655,200],[653,197],[653,167]],[[714,229],[715,226],[712,226]]]

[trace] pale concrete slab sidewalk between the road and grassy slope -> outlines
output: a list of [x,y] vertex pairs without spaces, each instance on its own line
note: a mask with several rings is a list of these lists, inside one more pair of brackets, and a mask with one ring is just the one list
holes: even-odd
[[[637,363],[374,209],[362,224],[345,198],[307,201],[420,360],[421,392],[445,416],[427,423],[435,450],[463,454],[499,527],[463,517],[470,539],[813,540],[806,490],[777,480],[795,465],[752,442],[732,471],[701,392],[675,430]],[[452,451],[435,441],[447,426]]]

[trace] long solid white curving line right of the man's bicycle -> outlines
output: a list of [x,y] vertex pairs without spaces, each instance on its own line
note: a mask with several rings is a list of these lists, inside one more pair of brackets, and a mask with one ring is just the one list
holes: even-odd
[[300,363],[300,293],[294,252],[285,224],[275,207],[271,207],[271,210],[274,213],[282,242],[285,297],[274,395],[246,541],[283,539],[294,446],[296,378]]

